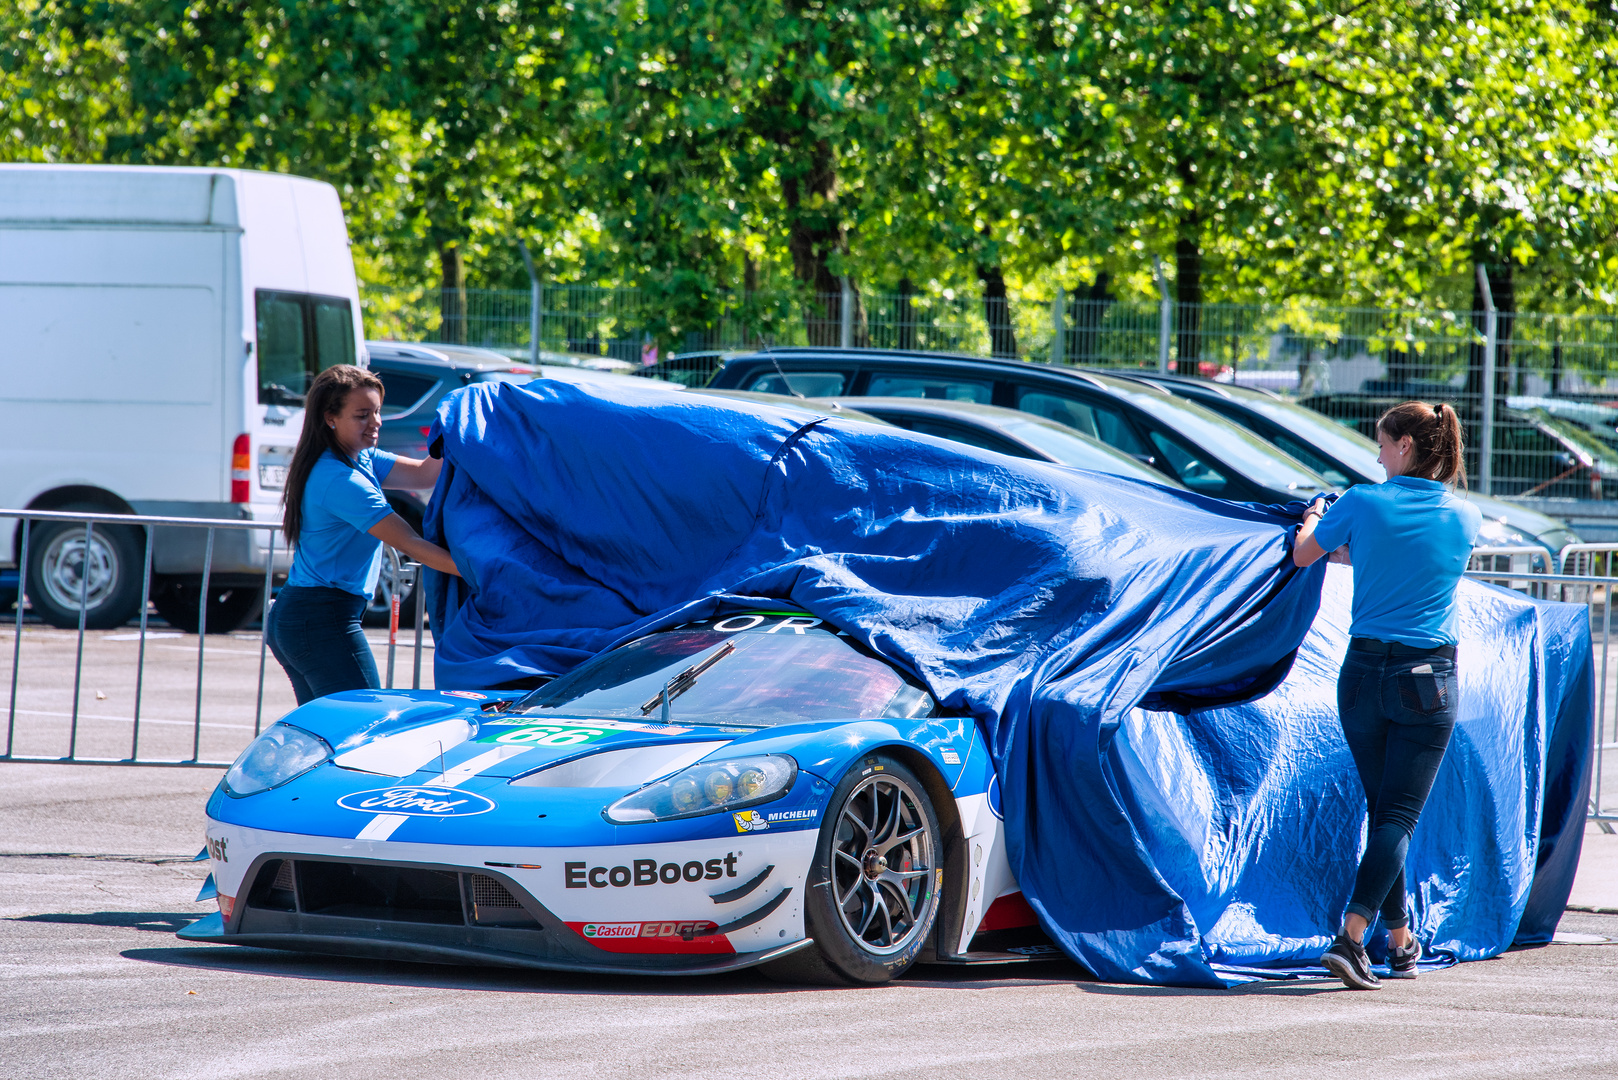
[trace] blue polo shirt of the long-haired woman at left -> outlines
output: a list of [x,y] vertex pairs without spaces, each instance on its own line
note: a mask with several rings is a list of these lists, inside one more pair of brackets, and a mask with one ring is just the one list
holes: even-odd
[[303,528],[286,585],[343,589],[367,599],[375,593],[382,541],[371,529],[393,513],[382,494],[393,460],[387,450],[361,450],[349,468],[330,450],[320,455],[304,484]]

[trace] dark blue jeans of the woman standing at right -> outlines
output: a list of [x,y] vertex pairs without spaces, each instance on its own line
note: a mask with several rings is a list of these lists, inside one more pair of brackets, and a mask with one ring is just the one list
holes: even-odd
[[1343,737],[1366,789],[1369,826],[1348,913],[1388,929],[1409,925],[1404,853],[1450,746],[1455,661],[1437,653],[1382,656],[1349,648],[1336,680]]

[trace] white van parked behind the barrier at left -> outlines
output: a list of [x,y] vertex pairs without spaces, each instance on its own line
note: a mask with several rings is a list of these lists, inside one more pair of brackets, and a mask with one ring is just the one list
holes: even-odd
[[[303,393],[364,363],[337,191],[233,168],[0,165],[0,508],[280,520]],[[138,614],[146,534],[31,526],[47,622]],[[220,531],[209,630],[262,602],[267,533]],[[16,565],[21,526],[0,526]],[[152,601],[194,630],[205,531],[159,528]],[[288,557],[277,552],[278,568]]]

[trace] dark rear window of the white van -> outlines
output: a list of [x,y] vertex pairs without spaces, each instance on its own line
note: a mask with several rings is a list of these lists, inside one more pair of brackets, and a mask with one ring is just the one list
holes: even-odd
[[254,301],[259,405],[301,406],[319,372],[354,363],[354,314],[345,298],[260,288]]

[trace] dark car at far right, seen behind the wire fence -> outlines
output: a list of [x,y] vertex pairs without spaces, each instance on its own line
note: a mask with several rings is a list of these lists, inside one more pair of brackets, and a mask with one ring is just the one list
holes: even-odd
[[[1406,398],[1364,393],[1322,393],[1299,402],[1324,416],[1356,427],[1367,439],[1377,418]],[[1477,411],[1459,403],[1461,423],[1472,434],[1466,471],[1479,474]],[[1618,497],[1618,452],[1573,423],[1535,411],[1500,408],[1495,419],[1493,491],[1497,495],[1560,499]]]

